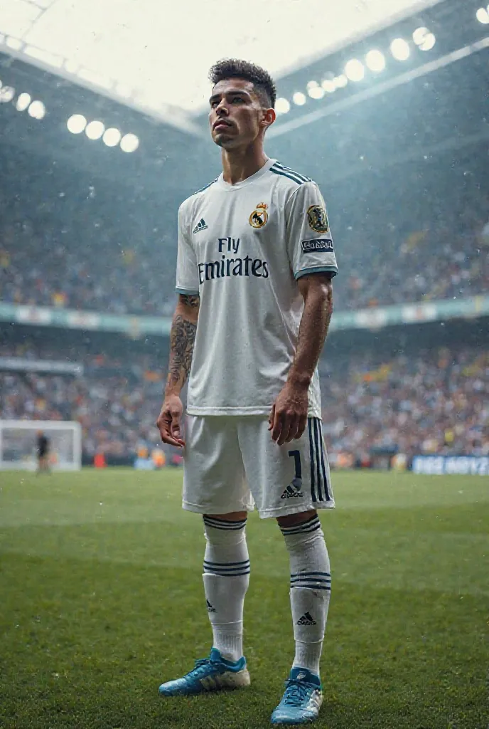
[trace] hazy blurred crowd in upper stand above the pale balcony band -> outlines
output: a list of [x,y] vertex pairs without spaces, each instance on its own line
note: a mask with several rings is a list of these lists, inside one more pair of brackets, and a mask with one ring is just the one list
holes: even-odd
[[[135,221],[130,233],[124,221],[89,225],[81,216],[61,225],[54,215],[26,217],[23,206],[3,212],[0,200],[0,302],[171,315],[174,225],[140,234]],[[488,220],[481,196],[457,214],[434,211],[426,225],[338,225],[336,310],[487,292]]]

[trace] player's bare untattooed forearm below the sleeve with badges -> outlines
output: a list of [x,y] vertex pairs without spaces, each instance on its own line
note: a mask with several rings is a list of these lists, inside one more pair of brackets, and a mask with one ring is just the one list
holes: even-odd
[[309,386],[325,345],[327,330],[333,314],[333,287],[331,282],[311,291],[304,301],[295,357],[290,366],[288,380]]

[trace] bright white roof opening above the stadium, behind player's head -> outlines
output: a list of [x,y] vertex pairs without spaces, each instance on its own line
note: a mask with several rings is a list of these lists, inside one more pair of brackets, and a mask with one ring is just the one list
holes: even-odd
[[199,133],[218,58],[280,77],[438,2],[2,0],[0,51]]

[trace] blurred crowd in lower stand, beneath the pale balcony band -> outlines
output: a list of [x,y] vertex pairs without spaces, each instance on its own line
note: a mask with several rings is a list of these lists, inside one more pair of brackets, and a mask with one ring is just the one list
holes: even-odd
[[[373,450],[407,458],[489,455],[489,353],[441,349],[384,361],[372,354],[370,361],[326,364],[322,373],[333,463],[338,453],[365,459]],[[0,372],[0,418],[76,420],[87,456],[132,456],[140,445],[158,443],[162,378],[149,358],[124,370],[92,357],[81,376]]]

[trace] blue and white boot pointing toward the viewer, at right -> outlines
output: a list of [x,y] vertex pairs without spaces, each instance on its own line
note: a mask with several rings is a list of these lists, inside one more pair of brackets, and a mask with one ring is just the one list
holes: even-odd
[[293,668],[285,682],[285,693],[271,714],[272,724],[308,724],[315,722],[322,704],[319,676],[307,668]]

